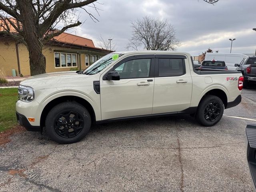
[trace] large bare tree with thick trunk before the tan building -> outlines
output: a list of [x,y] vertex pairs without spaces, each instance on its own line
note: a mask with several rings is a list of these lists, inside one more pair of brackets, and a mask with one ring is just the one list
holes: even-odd
[[[69,28],[82,24],[76,12],[82,8],[95,21],[85,6],[95,6],[96,0],[0,0],[0,35],[10,36],[26,45],[30,74],[45,73],[42,48],[49,40]],[[58,28],[58,26],[62,26]]]

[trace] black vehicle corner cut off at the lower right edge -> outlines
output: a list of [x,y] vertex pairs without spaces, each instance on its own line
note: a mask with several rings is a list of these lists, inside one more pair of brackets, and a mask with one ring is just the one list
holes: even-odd
[[254,190],[256,187],[256,124],[246,126],[246,157],[249,165],[249,170],[252,176],[252,182],[254,184]]

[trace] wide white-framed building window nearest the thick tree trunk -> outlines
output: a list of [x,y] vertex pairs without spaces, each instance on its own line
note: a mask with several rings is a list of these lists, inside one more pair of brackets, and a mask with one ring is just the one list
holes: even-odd
[[54,53],[54,61],[56,68],[76,67],[77,54],[71,53]]

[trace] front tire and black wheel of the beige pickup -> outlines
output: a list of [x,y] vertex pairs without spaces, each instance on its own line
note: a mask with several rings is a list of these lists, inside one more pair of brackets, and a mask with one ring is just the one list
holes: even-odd
[[60,144],[80,141],[91,127],[90,113],[76,102],[63,102],[54,106],[46,117],[46,133]]

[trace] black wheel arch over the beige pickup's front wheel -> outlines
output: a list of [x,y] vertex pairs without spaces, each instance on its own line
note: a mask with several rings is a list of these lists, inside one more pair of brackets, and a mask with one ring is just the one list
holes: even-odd
[[45,126],[46,116],[50,112],[50,110],[57,104],[60,104],[62,102],[68,102],[68,101],[78,102],[79,104],[84,106],[90,113],[92,123],[96,121],[95,111],[92,105],[87,100],[78,96],[60,96],[48,102],[48,104],[46,104],[46,106],[42,110],[41,117],[40,117],[41,128]]

